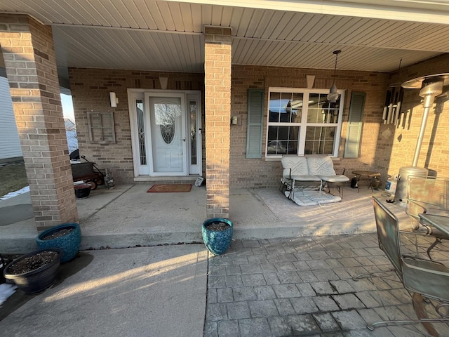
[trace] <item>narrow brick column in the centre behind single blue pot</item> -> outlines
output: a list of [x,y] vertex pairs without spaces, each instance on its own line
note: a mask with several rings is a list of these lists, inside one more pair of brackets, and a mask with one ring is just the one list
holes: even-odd
[[205,27],[206,216],[229,218],[231,28]]

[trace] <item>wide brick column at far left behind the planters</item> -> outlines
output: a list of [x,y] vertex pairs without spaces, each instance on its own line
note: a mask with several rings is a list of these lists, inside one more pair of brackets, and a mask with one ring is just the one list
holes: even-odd
[[0,45],[13,99],[36,227],[78,220],[51,27],[0,14]]

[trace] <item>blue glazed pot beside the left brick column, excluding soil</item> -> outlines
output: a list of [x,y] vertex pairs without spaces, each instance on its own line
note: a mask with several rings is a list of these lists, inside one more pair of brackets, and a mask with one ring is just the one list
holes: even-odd
[[[44,240],[44,237],[48,237],[52,234],[60,232],[61,230],[73,229],[62,237],[55,237],[53,239]],[[78,223],[63,223],[55,227],[51,227],[48,230],[44,230],[36,237],[36,244],[40,249],[48,247],[58,247],[64,251],[61,258],[61,263],[66,263],[72,260],[79,251],[81,245],[81,227]]]

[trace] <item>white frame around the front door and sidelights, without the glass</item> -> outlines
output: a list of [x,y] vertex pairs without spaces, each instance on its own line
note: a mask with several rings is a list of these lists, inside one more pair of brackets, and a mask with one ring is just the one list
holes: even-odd
[[[154,173],[152,159],[152,140],[151,126],[149,122],[149,97],[181,97],[184,117],[182,125],[182,134],[186,137],[184,142],[184,165],[187,166],[184,173]],[[135,100],[142,100],[145,114],[145,147],[147,149],[147,168],[140,165],[139,139],[137,134],[138,122],[136,117]],[[189,120],[189,101],[195,100],[196,110],[196,166],[191,165],[191,143],[190,143],[190,120]],[[180,91],[180,90],[156,90],[156,89],[137,89],[128,88],[128,111],[130,118],[131,147],[133,153],[133,166],[135,180],[142,180],[145,177],[163,177],[163,176],[202,176],[202,139],[201,139],[201,91]]]

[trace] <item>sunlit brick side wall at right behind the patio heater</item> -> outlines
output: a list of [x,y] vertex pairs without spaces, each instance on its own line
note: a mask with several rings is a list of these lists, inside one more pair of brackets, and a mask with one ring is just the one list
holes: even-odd
[[[406,67],[390,74],[388,83],[396,83],[415,79],[428,74],[448,72],[449,55],[444,54],[436,58]],[[429,111],[424,140],[417,166],[429,169],[432,175],[449,177],[449,103],[448,87],[443,95],[435,99],[434,107]],[[403,166],[411,166],[418,134],[420,132],[422,114],[422,98],[419,89],[405,91],[401,108],[401,119],[398,126],[378,123],[376,128],[377,151],[375,168],[387,176],[399,173]]]

